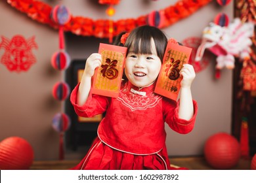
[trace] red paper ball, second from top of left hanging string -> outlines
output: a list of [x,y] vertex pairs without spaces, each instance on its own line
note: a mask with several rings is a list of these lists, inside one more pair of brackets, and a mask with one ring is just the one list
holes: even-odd
[[51,65],[54,69],[62,71],[70,65],[70,56],[65,51],[55,52],[51,58]]

